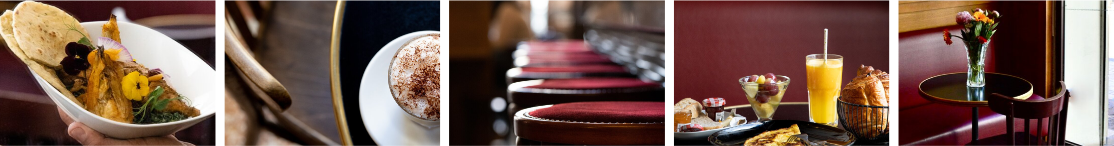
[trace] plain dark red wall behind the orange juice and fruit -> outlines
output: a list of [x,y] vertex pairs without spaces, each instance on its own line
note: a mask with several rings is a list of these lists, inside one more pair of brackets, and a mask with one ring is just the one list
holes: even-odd
[[773,72],[792,80],[782,101],[808,101],[804,57],[843,56],[846,85],[860,65],[890,71],[889,1],[676,1],[674,101],[723,97],[745,105],[739,78]]

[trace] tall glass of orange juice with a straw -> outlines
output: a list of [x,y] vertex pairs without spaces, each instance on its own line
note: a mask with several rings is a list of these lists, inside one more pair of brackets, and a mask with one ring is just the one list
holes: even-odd
[[839,97],[843,72],[843,56],[823,53],[805,56],[809,88],[809,120],[836,126],[836,98]]

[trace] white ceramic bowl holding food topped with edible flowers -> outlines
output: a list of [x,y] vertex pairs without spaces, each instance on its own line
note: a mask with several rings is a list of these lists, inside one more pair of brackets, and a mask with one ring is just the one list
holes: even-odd
[[[89,31],[89,37],[96,38],[100,37],[100,26],[105,22],[82,22],[81,26]],[[62,96],[55,87],[47,84],[42,77],[31,71],[42,90],[58,107],[62,108],[66,115],[106,136],[127,139],[170,135],[205,120],[216,113],[216,71],[208,64],[202,61],[194,52],[166,35],[135,23],[117,23],[120,30],[120,40],[124,41],[124,47],[127,47],[128,51],[131,52],[133,58],[147,68],[163,69],[163,72],[168,76],[166,79],[170,86],[178,94],[189,98],[189,106],[199,109],[201,115],[178,121],[148,125],[110,120],[85,110],[76,101]],[[96,41],[97,39],[90,40]]]

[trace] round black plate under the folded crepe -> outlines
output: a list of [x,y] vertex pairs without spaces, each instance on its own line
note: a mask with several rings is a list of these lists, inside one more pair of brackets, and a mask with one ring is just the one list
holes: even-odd
[[801,120],[770,120],[740,125],[712,133],[712,135],[707,137],[707,142],[719,146],[737,146],[742,145],[743,142],[746,142],[747,138],[762,134],[762,132],[789,128],[789,126],[793,126],[794,124],[801,128],[802,134],[809,134],[809,140],[827,140],[828,143],[844,146],[854,144],[854,135],[850,132],[828,125]]

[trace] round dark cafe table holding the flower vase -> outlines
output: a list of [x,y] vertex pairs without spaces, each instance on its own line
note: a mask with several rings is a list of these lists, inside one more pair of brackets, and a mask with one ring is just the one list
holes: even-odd
[[978,145],[978,108],[988,106],[990,94],[1014,98],[1033,96],[1033,84],[1019,77],[997,72],[984,75],[986,86],[967,87],[967,72],[929,77],[920,82],[920,97],[937,104],[971,107],[971,143]]

